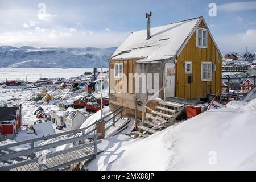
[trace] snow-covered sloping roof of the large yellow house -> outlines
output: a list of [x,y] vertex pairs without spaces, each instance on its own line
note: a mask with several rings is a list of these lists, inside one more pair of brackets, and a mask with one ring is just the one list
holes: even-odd
[[177,55],[201,17],[131,33],[110,59],[139,59],[137,62],[171,59]]

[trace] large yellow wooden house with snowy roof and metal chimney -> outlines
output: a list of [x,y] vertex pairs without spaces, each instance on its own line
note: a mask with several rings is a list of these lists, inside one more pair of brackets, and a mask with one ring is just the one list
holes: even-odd
[[[110,57],[111,110],[123,106],[134,115],[135,98],[150,105],[156,98],[203,101],[218,92],[222,55],[203,16],[148,26],[132,32]],[[148,80],[158,93],[148,91]]]

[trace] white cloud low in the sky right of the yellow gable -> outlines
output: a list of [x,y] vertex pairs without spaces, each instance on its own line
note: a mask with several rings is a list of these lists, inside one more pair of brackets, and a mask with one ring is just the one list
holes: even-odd
[[217,37],[216,42],[222,52],[245,52],[248,46],[250,51],[256,51],[256,29],[230,36]]

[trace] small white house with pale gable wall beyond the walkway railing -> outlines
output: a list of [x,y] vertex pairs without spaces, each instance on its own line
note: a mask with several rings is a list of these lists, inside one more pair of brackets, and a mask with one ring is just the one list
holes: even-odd
[[79,129],[82,123],[86,120],[86,117],[76,109],[69,107],[67,113],[63,116],[64,127],[68,130]]

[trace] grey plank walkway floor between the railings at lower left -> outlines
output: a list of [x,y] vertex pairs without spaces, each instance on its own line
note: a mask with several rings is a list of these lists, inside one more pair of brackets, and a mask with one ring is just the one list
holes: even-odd
[[[100,152],[101,151],[98,153]],[[61,168],[67,167],[71,164],[81,162],[82,160],[90,160],[92,158],[94,158],[94,148],[82,148],[80,150],[68,152],[67,154],[53,156],[52,158],[46,159],[46,162],[43,165],[43,170],[60,170]],[[26,164],[24,166],[13,168],[10,171],[39,171],[39,164],[37,162]]]

